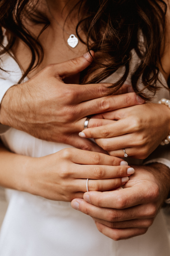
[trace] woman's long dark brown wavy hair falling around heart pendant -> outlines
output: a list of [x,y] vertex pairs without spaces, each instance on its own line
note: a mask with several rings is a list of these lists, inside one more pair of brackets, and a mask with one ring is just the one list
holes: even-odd
[[[30,48],[32,59],[19,83],[43,60],[43,49],[23,25],[23,17],[31,17],[35,23],[44,24],[40,34],[49,26],[50,21],[35,12],[36,4],[31,0],[0,0],[0,56],[10,50],[19,38]],[[87,50],[97,54],[93,64],[81,74],[80,83],[85,83],[89,74],[89,83],[99,83],[112,75],[118,68],[124,67],[124,75],[108,88],[108,93],[116,92],[127,80],[130,72],[132,50],[135,49],[140,62],[131,75],[134,91],[145,100],[151,100],[159,89],[158,74],[161,65],[161,47],[165,38],[166,3],[163,0],[79,0],[77,8],[79,22],[76,33]],[[86,16],[81,16],[81,11]],[[86,42],[79,36],[79,28],[86,34]],[[10,34],[6,46],[3,45],[3,29]],[[142,35],[142,43],[141,43]],[[143,45],[141,45],[143,44]],[[96,71],[102,68],[98,74]],[[97,74],[97,75],[94,75]],[[139,79],[143,89],[139,88]],[[149,93],[144,93],[147,88]]]

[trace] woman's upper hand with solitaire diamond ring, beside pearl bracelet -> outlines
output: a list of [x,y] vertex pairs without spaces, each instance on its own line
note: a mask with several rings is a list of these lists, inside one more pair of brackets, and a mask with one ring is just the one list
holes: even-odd
[[93,118],[109,119],[112,124],[85,129],[80,136],[96,138],[111,156],[124,157],[125,148],[128,156],[145,159],[170,132],[170,109],[164,104],[146,103]]

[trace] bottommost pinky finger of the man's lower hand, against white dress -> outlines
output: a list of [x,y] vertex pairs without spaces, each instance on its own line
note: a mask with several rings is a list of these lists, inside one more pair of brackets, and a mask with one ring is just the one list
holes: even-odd
[[97,229],[112,240],[118,241],[134,236],[140,236],[147,232],[148,228],[108,228],[107,226],[95,221]]

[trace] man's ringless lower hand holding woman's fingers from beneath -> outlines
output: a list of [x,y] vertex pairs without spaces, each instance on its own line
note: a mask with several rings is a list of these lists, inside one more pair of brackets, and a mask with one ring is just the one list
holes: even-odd
[[163,164],[133,166],[124,189],[86,192],[72,207],[93,217],[98,230],[113,240],[147,232],[170,190],[170,169]]

